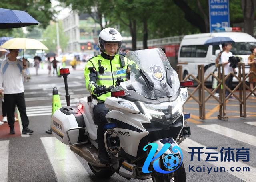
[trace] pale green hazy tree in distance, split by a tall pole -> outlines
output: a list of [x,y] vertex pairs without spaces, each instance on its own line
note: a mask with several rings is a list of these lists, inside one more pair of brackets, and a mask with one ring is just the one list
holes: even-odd
[[[68,37],[63,32],[62,21],[58,21],[59,25],[59,37],[60,37],[60,47],[61,49],[65,49],[68,44]],[[43,32],[43,40],[42,43],[48,47],[47,52],[55,52],[57,53],[57,33],[56,33],[56,23],[52,23],[46,27]]]

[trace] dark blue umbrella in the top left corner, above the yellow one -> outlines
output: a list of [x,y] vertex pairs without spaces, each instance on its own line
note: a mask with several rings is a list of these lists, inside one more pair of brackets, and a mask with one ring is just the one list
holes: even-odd
[[38,23],[24,11],[0,8],[0,29],[26,27]]

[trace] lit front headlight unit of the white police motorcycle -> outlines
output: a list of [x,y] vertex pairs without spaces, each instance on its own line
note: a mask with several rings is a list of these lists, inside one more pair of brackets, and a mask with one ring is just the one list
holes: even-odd
[[182,112],[182,101],[180,97],[173,102],[163,102],[161,104],[139,103],[149,119],[174,119]]

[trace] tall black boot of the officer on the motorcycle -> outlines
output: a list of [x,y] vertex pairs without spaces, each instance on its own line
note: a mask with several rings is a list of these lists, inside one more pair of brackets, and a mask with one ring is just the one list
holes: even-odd
[[99,160],[102,164],[108,164],[110,163],[110,157],[106,151],[105,145],[104,145],[104,130],[103,130],[103,124],[98,125],[97,129],[97,140],[98,140],[98,146],[99,146]]

